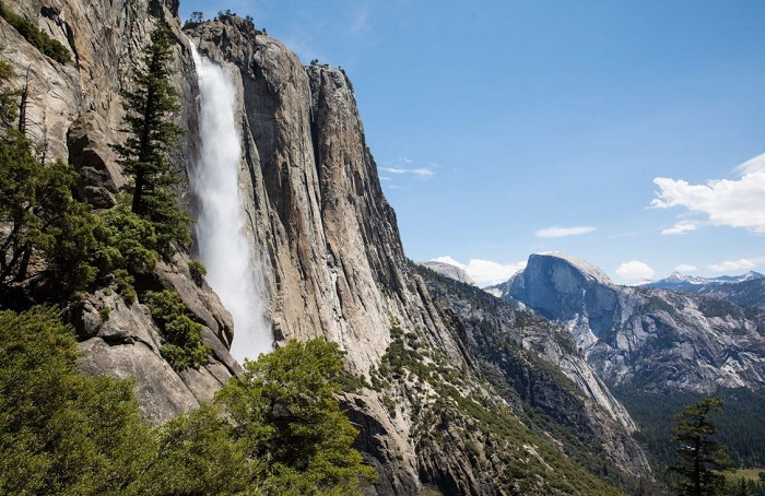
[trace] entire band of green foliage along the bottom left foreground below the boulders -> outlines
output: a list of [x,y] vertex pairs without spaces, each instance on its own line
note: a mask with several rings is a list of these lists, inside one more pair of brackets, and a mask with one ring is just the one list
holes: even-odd
[[131,381],[78,371],[74,333],[55,310],[0,311],[0,494],[360,494],[375,474],[333,399],[337,346],[273,355],[248,363],[217,404],[154,427]]

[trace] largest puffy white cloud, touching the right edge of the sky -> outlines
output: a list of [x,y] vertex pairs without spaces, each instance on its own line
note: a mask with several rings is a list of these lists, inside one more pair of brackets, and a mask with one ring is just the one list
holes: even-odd
[[709,180],[705,185],[657,177],[654,184],[660,190],[651,205],[657,209],[684,206],[691,212],[705,214],[714,225],[765,234],[765,155],[741,164],[735,172],[741,175],[738,180]]

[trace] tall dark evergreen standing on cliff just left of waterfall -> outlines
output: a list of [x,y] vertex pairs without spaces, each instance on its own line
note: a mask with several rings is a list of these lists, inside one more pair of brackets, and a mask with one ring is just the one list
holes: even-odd
[[166,257],[191,243],[190,220],[173,192],[179,179],[169,154],[184,130],[173,121],[179,105],[169,81],[172,62],[172,34],[157,23],[136,69],[133,86],[121,93],[128,138],[115,146],[125,174],[131,178],[131,210],[154,225],[158,248]]

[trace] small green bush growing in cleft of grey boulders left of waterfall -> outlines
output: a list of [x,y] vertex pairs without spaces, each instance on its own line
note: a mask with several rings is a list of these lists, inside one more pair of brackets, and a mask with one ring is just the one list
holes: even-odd
[[208,363],[212,350],[202,343],[202,326],[191,320],[177,293],[169,290],[148,292],[145,304],[166,340],[162,345],[162,356],[173,368],[199,368]]

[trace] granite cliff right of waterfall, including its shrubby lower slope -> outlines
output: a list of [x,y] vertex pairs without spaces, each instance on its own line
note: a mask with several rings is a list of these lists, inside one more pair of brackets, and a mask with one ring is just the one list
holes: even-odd
[[[480,378],[448,315],[412,274],[346,75],[303,67],[236,16],[187,34],[237,86],[240,191],[276,341],[336,341],[367,382],[344,403],[363,427],[358,448],[380,470],[369,491],[413,494],[432,485],[445,494],[516,494],[518,481],[503,475],[508,463],[562,463],[556,473],[569,467],[554,449],[529,457],[511,444],[517,433],[529,449],[548,446]],[[473,405],[479,399],[485,405]],[[495,425],[492,415],[515,427]],[[490,445],[506,449],[492,454],[483,450]],[[483,451],[471,454],[474,446]],[[528,494],[555,494],[557,484],[551,476]]]

